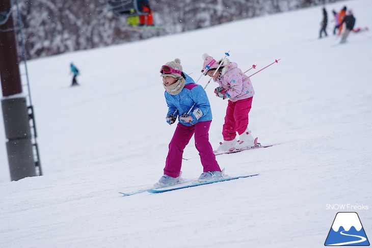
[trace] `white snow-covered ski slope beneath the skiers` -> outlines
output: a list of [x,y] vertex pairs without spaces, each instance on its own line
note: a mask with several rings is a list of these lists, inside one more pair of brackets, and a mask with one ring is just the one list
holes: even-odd
[[[330,19],[344,5],[356,26],[372,27],[372,1],[327,5]],[[329,37],[317,39],[321,8],[30,61],[44,176],[10,182],[0,131],[0,246],[313,248],[339,211],[357,212],[372,236],[372,32],[339,45],[330,22]],[[180,58],[196,80],[202,53],[219,59],[228,50],[242,70],[281,59],[251,78],[250,113],[259,142],[281,144],[217,157],[230,176],[260,175],[120,196],[163,175],[175,125],[165,122],[159,68]],[[70,62],[81,70],[79,87],[69,87]],[[214,148],[227,104],[216,87],[206,89]],[[193,143],[184,157],[197,157]],[[197,178],[200,160],[182,171]],[[337,204],[356,209],[330,208]]]

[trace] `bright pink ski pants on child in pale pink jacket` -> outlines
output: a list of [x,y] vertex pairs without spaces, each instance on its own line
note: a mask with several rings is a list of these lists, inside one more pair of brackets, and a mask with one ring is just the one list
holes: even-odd
[[253,97],[232,102],[228,100],[225,124],[222,128],[224,141],[232,141],[236,132],[242,134],[248,126],[248,114],[252,107]]

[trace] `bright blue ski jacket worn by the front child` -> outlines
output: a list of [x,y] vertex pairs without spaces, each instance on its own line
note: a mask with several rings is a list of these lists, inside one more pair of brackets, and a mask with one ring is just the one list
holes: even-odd
[[[186,77],[186,84],[181,92],[177,95],[171,95],[167,91],[164,93],[168,105],[167,116],[178,116],[178,122],[186,126],[192,126],[201,121],[212,120],[212,112],[205,90],[200,85],[195,84],[194,79],[190,76],[184,72],[183,74]],[[196,104],[190,112],[193,122],[188,123],[180,121],[179,117],[184,113],[187,114],[194,103]],[[177,112],[175,113],[176,110]]]

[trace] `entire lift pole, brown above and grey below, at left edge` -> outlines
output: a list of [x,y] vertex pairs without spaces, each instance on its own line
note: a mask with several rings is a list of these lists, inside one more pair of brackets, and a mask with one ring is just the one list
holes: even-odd
[[0,78],[11,180],[37,176],[26,97],[22,93],[10,0],[0,2]]

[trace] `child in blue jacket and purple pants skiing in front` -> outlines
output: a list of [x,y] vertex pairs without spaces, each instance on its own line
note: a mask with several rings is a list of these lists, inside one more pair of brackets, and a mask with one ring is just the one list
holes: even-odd
[[[223,177],[216,161],[216,155],[209,143],[208,130],[212,121],[212,113],[208,97],[203,87],[195,84],[190,76],[182,72],[180,63],[179,59],[175,59],[166,63],[160,70],[168,105],[167,123],[175,123],[178,116],[178,124],[169,144],[164,175],[157,183],[161,186],[181,182],[183,149],[193,135],[195,147],[199,151],[203,166],[203,173],[200,175],[199,181]],[[195,106],[192,108],[194,103]],[[188,114],[190,109],[191,112]]]

